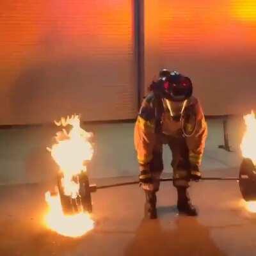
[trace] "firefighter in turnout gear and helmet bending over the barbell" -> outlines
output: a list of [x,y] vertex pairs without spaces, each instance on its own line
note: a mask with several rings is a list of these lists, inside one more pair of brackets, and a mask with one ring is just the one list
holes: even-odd
[[207,124],[199,101],[192,96],[189,77],[161,70],[150,84],[134,127],[134,144],[140,166],[140,185],[145,190],[146,211],[157,218],[156,192],[163,172],[163,144],[172,152],[173,186],[180,214],[196,216],[188,195],[189,181],[201,178],[200,163]]

